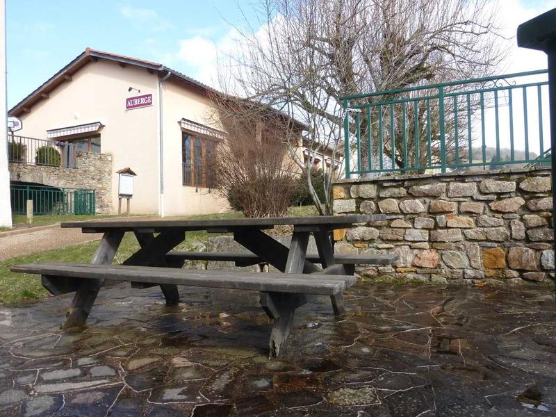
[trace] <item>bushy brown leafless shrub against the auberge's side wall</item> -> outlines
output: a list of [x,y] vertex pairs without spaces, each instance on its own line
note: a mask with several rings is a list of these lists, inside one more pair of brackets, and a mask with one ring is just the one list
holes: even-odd
[[275,109],[213,94],[211,115],[226,138],[215,158],[215,188],[247,217],[278,217],[291,205],[297,172],[284,142],[301,126]]

